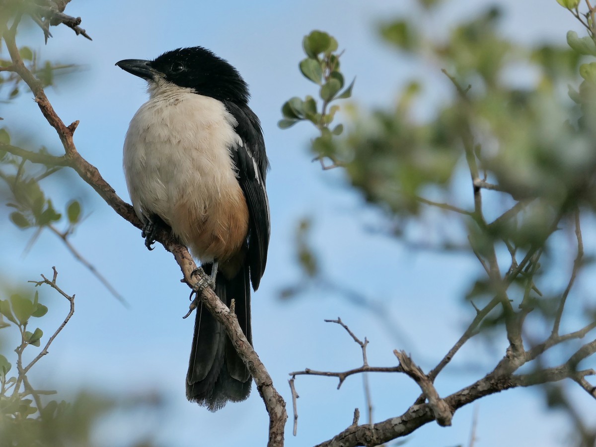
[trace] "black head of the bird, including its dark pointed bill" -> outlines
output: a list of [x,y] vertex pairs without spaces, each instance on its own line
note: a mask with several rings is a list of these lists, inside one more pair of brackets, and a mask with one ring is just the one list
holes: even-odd
[[126,59],[116,65],[148,82],[163,79],[220,101],[246,104],[249,100],[248,87],[240,73],[203,47],[178,48],[155,60]]

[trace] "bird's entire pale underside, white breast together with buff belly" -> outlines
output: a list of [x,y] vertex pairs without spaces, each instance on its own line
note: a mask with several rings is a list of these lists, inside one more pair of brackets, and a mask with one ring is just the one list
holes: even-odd
[[[169,89],[169,90],[168,90]],[[136,214],[157,214],[201,262],[225,263],[246,242],[249,212],[231,158],[242,141],[224,104],[164,84],[136,112],[124,168]]]

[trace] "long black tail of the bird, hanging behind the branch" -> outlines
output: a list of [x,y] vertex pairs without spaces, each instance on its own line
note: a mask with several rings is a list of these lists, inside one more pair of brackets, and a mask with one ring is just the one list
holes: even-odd
[[[205,273],[210,274],[211,267],[211,264],[204,265]],[[232,279],[226,279],[219,272],[215,293],[227,306],[234,298],[238,322],[252,343],[248,263]],[[187,399],[206,406],[210,411],[218,411],[228,400],[238,402],[249,397],[252,377],[238,357],[224,326],[204,309],[202,303],[196,312],[187,374]]]

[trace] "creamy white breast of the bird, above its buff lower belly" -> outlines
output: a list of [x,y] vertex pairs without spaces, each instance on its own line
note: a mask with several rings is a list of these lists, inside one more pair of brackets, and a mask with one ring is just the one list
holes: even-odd
[[162,81],[150,85],[150,94],[126,134],[126,183],[141,220],[159,215],[189,245],[189,223],[175,221],[175,205],[191,204],[200,218],[238,194],[229,153],[241,144],[237,123],[220,101],[190,89]]

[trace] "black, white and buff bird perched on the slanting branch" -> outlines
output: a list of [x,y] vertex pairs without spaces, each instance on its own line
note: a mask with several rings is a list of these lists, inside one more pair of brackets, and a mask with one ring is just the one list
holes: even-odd
[[[270,235],[265,177],[269,161],[259,118],[240,73],[203,47],[121,69],[145,79],[149,99],[126,132],[123,168],[136,215],[163,226],[200,261],[252,344],[250,284],[259,288]],[[250,394],[252,377],[221,323],[196,310],[186,378],[187,399],[217,411]]]

